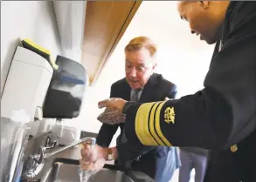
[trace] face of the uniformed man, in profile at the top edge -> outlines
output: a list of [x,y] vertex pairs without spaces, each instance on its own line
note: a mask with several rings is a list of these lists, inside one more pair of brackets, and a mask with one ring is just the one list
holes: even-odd
[[[180,2],[178,11],[180,16],[189,22],[191,33],[196,33],[207,44],[214,44],[218,29],[223,19],[215,3],[208,1]],[[224,15],[223,15],[224,17]]]

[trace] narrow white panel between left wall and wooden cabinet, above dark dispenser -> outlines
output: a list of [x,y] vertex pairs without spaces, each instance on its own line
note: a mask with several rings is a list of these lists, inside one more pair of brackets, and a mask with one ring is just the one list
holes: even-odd
[[64,57],[80,63],[84,37],[86,1],[53,1]]

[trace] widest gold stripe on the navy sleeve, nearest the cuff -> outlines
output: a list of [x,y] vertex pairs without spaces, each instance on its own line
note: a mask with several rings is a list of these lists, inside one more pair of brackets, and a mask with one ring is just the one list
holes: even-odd
[[155,103],[142,104],[135,117],[135,132],[143,145],[157,145],[149,133],[149,112]]

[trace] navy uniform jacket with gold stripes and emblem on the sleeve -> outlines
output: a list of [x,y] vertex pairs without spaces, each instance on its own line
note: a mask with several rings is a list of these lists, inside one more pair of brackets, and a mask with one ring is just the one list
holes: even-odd
[[205,182],[253,182],[256,181],[255,2],[230,3],[220,39],[204,89],[176,100],[132,104],[125,111],[126,136],[137,148],[142,144],[174,145],[214,151]]

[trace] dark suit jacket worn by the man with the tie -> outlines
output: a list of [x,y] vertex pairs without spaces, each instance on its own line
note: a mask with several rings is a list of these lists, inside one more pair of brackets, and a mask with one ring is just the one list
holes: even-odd
[[[114,84],[112,84],[110,98],[123,98],[126,100],[130,100],[130,92],[131,92],[131,88],[127,83],[126,79],[123,78],[115,82]],[[154,73],[149,78],[148,83],[144,86],[144,89],[142,91],[142,96],[140,98],[140,102],[142,103],[154,102],[157,100],[164,100],[164,98],[166,97],[175,98],[175,96],[176,96],[176,85],[164,79],[162,75]],[[123,124],[119,124],[119,125],[103,124],[100,128],[100,131],[97,137],[97,144],[102,147],[108,147],[108,145],[110,144],[114,136],[115,131],[117,131],[118,127],[120,127],[121,133],[122,133],[123,126],[124,126]],[[170,152],[176,153],[175,147],[142,146],[140,149],[136,149],[133,143],[128,143],[128,142],[117,145],[117,150],[119,153],[119,160],[121,161],[122,164],[125,164],[125,161],[134,160],[131,166],[132,169],[135,171],[145,172],[151,178],[156,177],[157,158],[163,158],[168,153],[170,154]],[[171,165],[176,165],[177,162],[179,161],[172,161]],[[172,173],[170,166],[165,166],[165,167],[170,168],[168,172]],[[179,165],[176,167],[179,167]]]

